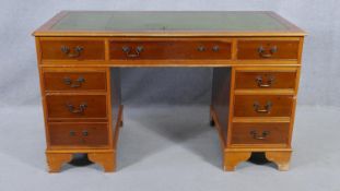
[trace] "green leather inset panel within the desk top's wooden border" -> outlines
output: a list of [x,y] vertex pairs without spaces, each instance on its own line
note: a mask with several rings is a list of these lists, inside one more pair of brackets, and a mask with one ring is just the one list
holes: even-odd
[[277,32],[289,27],[269,12],[68,12],[52,31]]

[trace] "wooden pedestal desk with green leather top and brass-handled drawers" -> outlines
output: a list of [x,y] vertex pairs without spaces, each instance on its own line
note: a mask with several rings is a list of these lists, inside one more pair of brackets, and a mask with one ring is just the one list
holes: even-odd
[[74,153],[115,170],[121,67],[213,68],[223,168],[265,152],[289,169],[305,32],[278,14],[63,11],[34,36],[50,171]]

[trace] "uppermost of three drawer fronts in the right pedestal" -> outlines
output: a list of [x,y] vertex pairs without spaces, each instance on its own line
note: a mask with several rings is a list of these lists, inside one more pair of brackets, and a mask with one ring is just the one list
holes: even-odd
[[295,88],[296,72],[236,71],[235,88]]

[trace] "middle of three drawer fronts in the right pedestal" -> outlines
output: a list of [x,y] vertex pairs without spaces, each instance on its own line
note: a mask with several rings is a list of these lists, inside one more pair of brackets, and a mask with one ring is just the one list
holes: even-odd
[[236,95],[235,117],[290,117],[293,96]]

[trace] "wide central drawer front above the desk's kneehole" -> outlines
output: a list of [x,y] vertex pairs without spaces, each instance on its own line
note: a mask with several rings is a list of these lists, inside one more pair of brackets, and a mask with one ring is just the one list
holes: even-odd
[[113,40],[109,44],[113,60],[157,59],[231,59],[230,41],[219,40]]

